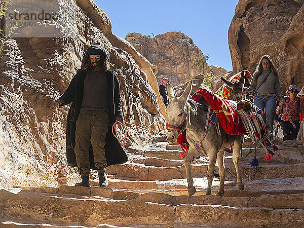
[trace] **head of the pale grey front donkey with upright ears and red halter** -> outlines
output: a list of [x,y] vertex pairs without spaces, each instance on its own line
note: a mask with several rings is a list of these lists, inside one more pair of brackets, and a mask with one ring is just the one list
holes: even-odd
[[177,136],[185,129],[187,120],[187,99],[192,90],[192,81],[190,81],[182,95],[177,96],[173,86],[168,85],[169,104],[166,109],[168,114],[168,133],[166,139],[174,143]]

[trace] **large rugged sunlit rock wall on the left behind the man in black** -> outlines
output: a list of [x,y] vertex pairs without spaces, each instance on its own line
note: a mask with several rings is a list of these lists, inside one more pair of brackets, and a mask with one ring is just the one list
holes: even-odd
[[[112,34],[110,19],[91,0],[55,3],[55,14],[73,15],[67,24],[73,35],[13,37],[4,43],[5,52],[1,53],[1,187],[57,186],[78,177],[75,169],[67,167],[65,158],[68,106],[57,108],[54,103],[92,44],[106,48],[111,69],[119,73],[125,119],[156,132],[164,131],[165,108],[158,92],[156,67],[132,45]],[[54,29],[59,22],[41,26]],[[149,135],[129,129],[131,143],[143,146]]]

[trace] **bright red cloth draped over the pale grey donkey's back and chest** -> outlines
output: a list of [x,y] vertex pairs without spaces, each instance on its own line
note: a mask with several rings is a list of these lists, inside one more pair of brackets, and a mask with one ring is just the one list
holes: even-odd
[[[226,100],[219,95],[216,95],[211,90],[199,89],[196,91],[191,99],[196,102],[207,102],[216,113],[220,126],[230,135],[244,135],[246,131],[243,127],[241,117],[237,112],[236,102]],[[189,144],[186,141],[185,132],[182,132],[177,137],[177,143],[187,151]],[[185,153],[181,153],[181,157],[185,157]]]

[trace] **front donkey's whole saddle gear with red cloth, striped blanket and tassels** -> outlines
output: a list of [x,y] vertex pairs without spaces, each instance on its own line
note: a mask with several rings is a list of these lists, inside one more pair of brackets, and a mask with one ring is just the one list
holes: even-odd
[[[242,100],[237,103],[235,101],[226,100],[206,88],[196,91],[191,99],[199,103],[208,103],[214,111],[213,115],[210,117],[214,120],[211,121],[214,123],[218,122],[227,134],[249,135],[255,147],[260,144],[266,151],[265,161],[270,160],[274,156],[274,153],[268,149],[266,145],[266,141],[271,142],[267,136],[269,127],[265,125],[262,120],[262,111],[251,101]],[[217,121],[215,119],[217,119]],[[181,158],[184,158],[189,149],[185,131],[177,137],[177,143],[183,149],[180,156]],[[276,151],[278,147],[274,144],[272,145],[273,149]],[[250,163],[252,167],[258,166],[256,150],[254,151],[254,159]]]

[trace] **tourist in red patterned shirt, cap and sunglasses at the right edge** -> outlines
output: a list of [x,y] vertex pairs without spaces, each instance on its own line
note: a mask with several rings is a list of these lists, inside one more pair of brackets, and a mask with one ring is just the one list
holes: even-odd
[[280,102],[276,109],[277,114],[283,105],[283,113],[281,118],[281,127],[283,130],[283,140],[296,139],[300,127],[300,113],[303,116],[304,106],[303,100],[296,95],[299,93],[296,85],[290,85],[286,91],[289,96],[286,98],[285,105]]

